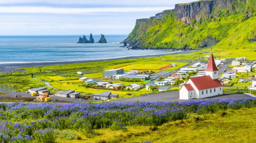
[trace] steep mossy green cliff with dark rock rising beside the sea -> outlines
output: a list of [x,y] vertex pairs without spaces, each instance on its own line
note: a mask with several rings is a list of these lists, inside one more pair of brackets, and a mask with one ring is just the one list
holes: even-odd
[[137,19],[123,41],[133,49],[255,47],[255,0],[204,0],[177,4],[155,16]]

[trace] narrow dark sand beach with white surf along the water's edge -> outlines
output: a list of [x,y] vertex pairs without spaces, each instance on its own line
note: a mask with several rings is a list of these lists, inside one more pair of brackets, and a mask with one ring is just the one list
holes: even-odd
[[100,61],[111,61],[111,60],[120,60],[120,59],[133,59],[133,58],[143,58],[143,57],[157,57],[170,54],[180,54],[180,53],[189,53],[196,50],[186,50],[186,51],[176,51],[163,54],[150,54],[150,55],[137,55],[137,56],[125,56],[125,57],[116,57],[116,58],[107,58],[107,59],[92,59],[92,60],[79,60],[79,61],[50,61],[50,62],[0,62],[0,73],[9,72],[9,70],[15,70],[19,68],[27,67],[40,67],[40,66],[49,66],[49,65],[62,65],[62,64],[73,64],[73,63],[83,63],[83,62],[100,62]]

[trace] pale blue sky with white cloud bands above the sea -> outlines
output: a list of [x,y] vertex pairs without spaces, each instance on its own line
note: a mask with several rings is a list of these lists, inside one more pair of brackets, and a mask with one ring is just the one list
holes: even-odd
[[0,35],[129,34],[136,19],[195,0],[0,0]]

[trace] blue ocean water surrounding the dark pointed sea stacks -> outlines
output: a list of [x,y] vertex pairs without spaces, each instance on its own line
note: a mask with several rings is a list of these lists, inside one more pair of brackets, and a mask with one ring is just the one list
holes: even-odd
[[[127,50],[120,46],[128,35],[105,35],[108,43],[76,43],[79,36],[0,36],[0,63],[109,59],[164,54],[170,50]],[[85,35],[89,39],[89,35]],[[98,42],[100,35],[93,35]]]

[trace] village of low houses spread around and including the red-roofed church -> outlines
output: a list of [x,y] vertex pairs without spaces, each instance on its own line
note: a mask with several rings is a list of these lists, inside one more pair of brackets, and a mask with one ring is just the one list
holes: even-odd
[[[245,57],[230,59],[214,59],[211,53],[208,63],[195,61],[192,64],[178,68],[170,74],[155,76],[154,69],[132,69],[125,72],[124,68],[115,68],[103,71],[101,78],[88,78],[82,71],[77,71],[81,75],[79,82],[84,83],[88,88],[97,89],[102,92],[93,93],[90,99],[117,100],[120,96],[115,91],[148,91],[147,93],[172,92],[179,90],[179,99],[201,99],[221,96],[223,90],[232,87],[248,89],[252,92],[256,90],[256,61],[248,61]],[[164,68],[178,66],[176,63],[166,65]],[[159,73],[159,72],[158,72]],[[249,73],[251,76],[249,76]],[[139,84],[140,83],[140,84]],[[113,93],[112,93],[113,92]],[[29,89],[26,93],[31,96],[39,95],[36,100],[50,101],[51,98],[74,98],[81,100],[81,93],[75,90],[58,91],[52,94],[47,88]]]

